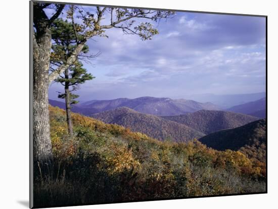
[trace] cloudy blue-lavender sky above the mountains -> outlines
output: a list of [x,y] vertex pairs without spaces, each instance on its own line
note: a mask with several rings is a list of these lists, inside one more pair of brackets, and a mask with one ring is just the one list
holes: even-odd
[[[113,28],[87,41],[101,54],[83,62],[96,78],[80,85],[80,101],[265,91],[265,18],[177,12],[153,24],[152,40]],[[52,84],[49,98],[61,91]]]

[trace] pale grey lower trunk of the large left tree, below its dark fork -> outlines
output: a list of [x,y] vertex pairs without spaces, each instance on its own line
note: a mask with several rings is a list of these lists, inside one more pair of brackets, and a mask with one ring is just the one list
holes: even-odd
[[53,160],[49,124],[49,63],[51,31],[37,34],[33,43],[33,138],[34,159],[41,165]]

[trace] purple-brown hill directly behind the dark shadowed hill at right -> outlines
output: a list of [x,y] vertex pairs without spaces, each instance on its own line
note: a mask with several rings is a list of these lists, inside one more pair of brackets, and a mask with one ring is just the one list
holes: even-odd
[[175,121],[204,134],[221,129],[235,128],[245,125],[259,118],[234,112],[199,110],[193,113],[174,116],[162,116],[164,119]]

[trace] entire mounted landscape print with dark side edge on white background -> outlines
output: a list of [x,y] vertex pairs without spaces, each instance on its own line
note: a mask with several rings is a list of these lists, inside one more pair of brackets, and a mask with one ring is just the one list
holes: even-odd
[[266,193],[267,17],[124,6],[30,2],[30,207]]

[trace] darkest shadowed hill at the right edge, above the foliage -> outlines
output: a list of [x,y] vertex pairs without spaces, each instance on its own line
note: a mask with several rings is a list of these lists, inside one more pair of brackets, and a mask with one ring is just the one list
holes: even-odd
[[216,150],[240,150],[249,157],[265,161],[266,120],[260,119],[238,128],[220,130],[199,141]]

